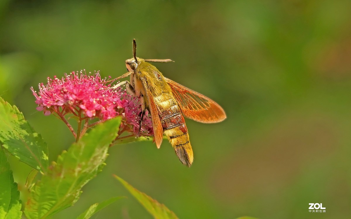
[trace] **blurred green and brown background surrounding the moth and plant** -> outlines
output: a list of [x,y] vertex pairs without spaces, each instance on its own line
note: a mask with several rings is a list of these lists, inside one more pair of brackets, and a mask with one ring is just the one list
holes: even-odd
[[[223,106],[218,124],[186,120],[191,168],[171,145],[114,146],[80,200],[54,218],[126,195],[96,218],[151,218],[112,177],[179,218],[351,217],[351,1],[0,1],[0,96],[15,104],[56,160],[74,141],[35,110],[29,88],[74,70],[126,72],[139,57]],[[29,167],[12,161],[24,185]],[[310,213],[323,203],[326,213]]]

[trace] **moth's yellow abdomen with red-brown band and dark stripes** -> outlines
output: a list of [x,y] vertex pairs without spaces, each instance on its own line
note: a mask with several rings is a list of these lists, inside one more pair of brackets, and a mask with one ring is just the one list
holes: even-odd
[[155,97],[155,102],[159,108],[164,135],[167,136],[180,161],[190,166],[194,160],[193,151],[184,117],[175,98],[172,94],[166,93]]

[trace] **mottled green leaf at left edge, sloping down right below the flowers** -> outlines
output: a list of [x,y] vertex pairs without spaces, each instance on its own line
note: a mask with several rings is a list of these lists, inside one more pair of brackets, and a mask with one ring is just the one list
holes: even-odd
[[21,162],[44,173],[48,167],[48,148],[16,106],[0,97],[0,145]]

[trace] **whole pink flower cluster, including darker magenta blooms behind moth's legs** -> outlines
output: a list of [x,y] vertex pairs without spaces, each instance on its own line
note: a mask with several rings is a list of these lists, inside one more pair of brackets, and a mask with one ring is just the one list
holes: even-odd
[[[79,74],[74,71],[61,79],[48,78],[47,84],[39,84],[39,92],[31,88],[38,104],[37,110],[44,115],[56,113],[60,118],[73,114],[79,119],[99,118],[102,121],[121,115],[123,126],[131,131],[139,130],[140,103],[137,98],[126,93],[122,88],[111,88],[106,79],[95,75]],[[151,118],[145,116],[141,132],[152,134]]]

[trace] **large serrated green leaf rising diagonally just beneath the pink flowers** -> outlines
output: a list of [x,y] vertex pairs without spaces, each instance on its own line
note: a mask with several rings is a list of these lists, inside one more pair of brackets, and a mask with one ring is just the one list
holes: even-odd
[[27,218],[47,218],[73,205],[81,188],[101,171],[107,150],[117,137],[121,118],[110,119],[85,134],[58,157],[31,191],[25,207]]

